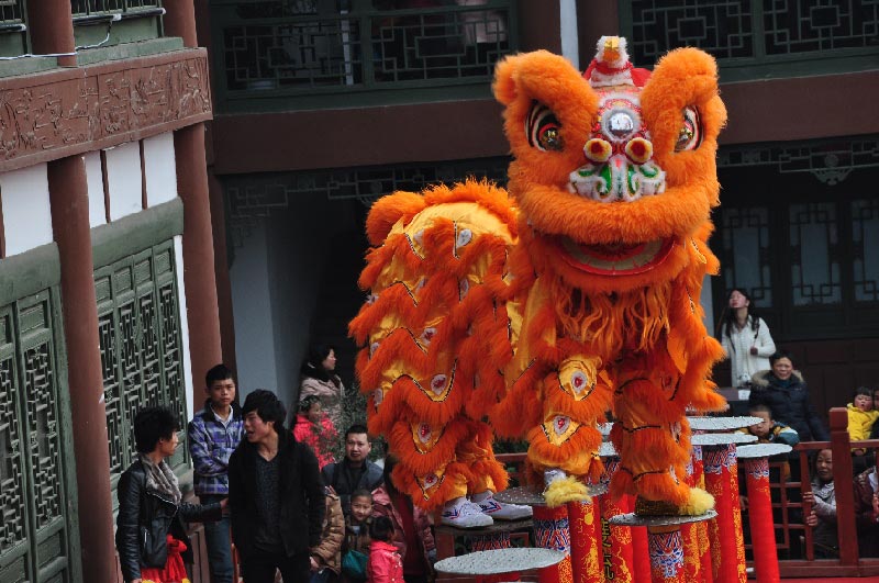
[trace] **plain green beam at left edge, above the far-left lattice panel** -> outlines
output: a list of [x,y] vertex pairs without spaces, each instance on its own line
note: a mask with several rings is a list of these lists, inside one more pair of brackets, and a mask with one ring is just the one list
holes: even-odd
[[62,264],[55,243],[0,259],[0,305],[33,295],[62,280]]

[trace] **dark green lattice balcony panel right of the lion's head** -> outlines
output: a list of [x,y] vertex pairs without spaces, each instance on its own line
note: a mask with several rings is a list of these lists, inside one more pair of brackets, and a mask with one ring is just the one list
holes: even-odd
[[696,46],[724,81],[875,68],[875,0],[637,0],[620,2],[621,31],[635,64]]

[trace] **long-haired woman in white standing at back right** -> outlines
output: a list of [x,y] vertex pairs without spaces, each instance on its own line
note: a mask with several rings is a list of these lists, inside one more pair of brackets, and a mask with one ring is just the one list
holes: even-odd
[[752,382],[755,373],[769,368],[776,343],[759,317],[747,292],[733,289],[721,315],[720,340],[732,365],[733,386]]

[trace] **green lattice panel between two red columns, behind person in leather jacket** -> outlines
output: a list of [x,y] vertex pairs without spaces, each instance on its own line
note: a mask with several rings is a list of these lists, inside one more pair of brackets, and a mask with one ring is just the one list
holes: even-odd
[[[141,407],[167,405],[181,424],[187,418],[174,242],[97,269],[94,288],[115,489],[135,456],[132,424]],[[176,470],[189,463],[183,441],[181,434],[181,446],[169,460]]]

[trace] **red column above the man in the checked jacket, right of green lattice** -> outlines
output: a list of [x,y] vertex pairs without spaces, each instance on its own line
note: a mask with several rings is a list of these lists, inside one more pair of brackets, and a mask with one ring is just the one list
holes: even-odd
[[213,272],[204,124],[175,132],[174,155],[177,162],[177,191],[183,201],[183,284],[189,321],[189,354],[192,375],[200,379],[223,359]]

